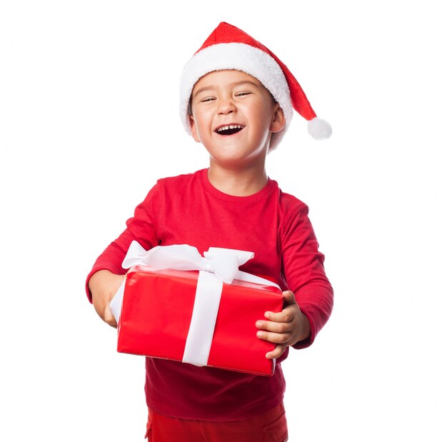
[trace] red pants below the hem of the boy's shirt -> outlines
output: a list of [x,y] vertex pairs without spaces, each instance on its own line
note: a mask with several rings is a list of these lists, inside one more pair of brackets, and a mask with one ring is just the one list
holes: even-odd
[[286,413],[280,403],[245,421],[209,422],[170,418],[149,410],[149,442],[284,442]]

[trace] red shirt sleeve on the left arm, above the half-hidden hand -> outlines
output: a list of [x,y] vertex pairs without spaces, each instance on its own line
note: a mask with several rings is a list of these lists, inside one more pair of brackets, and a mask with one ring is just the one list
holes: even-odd
[[86,294],[91,301],[89,281],[99,270],[109,270],[117,275],[124,275],[126,270],[121,266],[124,256],[132,241],[138,241],[149,250],[158,245],[156,214],[159,213],[159,186],[154,186],[144,201],[136,206],[134,216],[126,221],[126,229],[111,242],[96,259],[86,278]]

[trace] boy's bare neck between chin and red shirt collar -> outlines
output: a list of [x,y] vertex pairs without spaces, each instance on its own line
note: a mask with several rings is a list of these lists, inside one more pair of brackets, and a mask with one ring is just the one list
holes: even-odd
[[210,183],[224,194],[232,196],[248,196],[256,194],[267,184],[268,177],[264,167],[235,170],[213,164],[208,169]]

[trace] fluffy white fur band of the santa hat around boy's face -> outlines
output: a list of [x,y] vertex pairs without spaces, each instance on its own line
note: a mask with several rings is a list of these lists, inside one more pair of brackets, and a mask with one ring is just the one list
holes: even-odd
[[236,69],[261,81],[278,102],[286,118],[286,126],[272,134],[270,149],[275,149],[286,133],[293,116],[290,90],[281,67],[265,51],[243,43],[221,43],[197,52],[185,65],[180,80],[180,117],[191,134],[189,101],[191,93],[202,76],[213,71]]

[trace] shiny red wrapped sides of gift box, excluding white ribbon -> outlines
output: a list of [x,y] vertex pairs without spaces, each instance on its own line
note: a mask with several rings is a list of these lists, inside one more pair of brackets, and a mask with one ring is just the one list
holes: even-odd
[[[118,351],[182,361],[199,271],[134,266],[127,273],[119,318]],[[271,375],[266,358],[276,344],[256,336],[266,311],[281,311],[277,286],[233,280],[223,283],[207,366]]]

